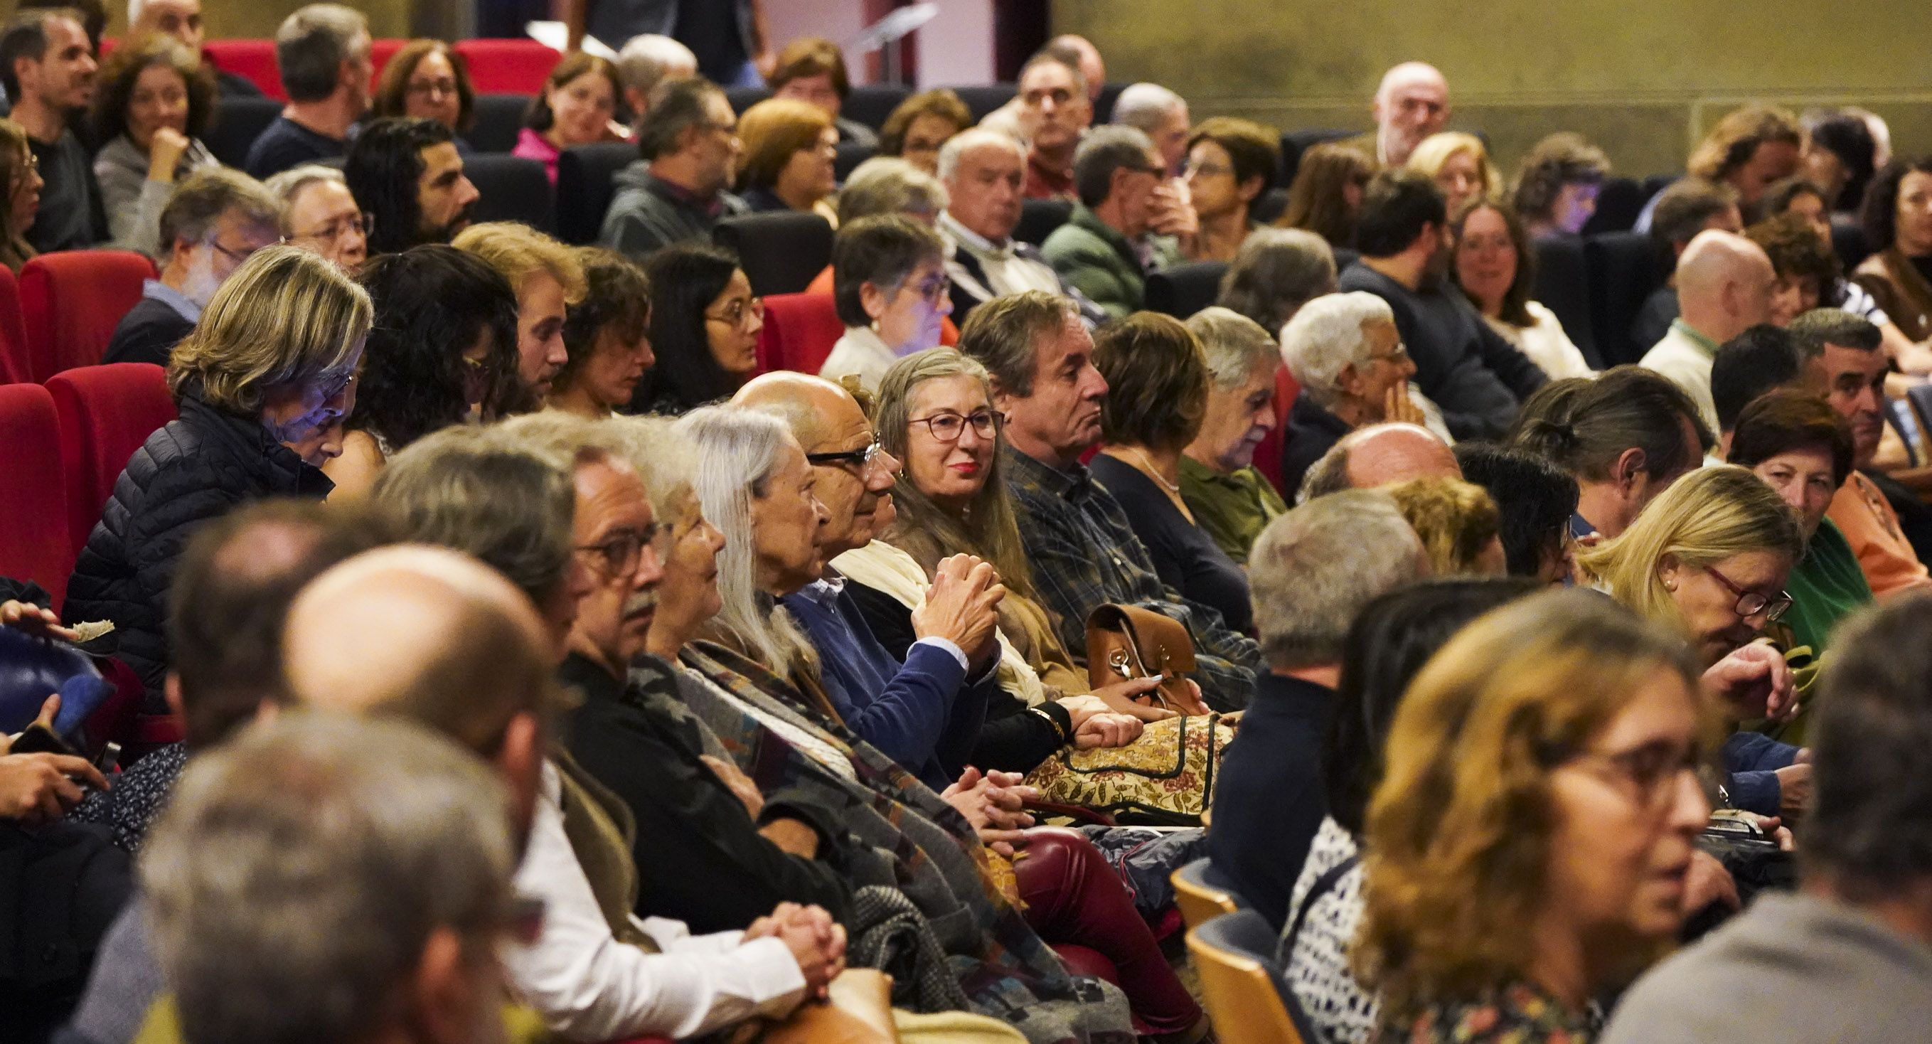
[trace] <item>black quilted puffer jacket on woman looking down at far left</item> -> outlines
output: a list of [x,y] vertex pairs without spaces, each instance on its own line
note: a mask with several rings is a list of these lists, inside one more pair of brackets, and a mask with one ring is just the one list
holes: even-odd
[[195,530],[247,501],[323,499],[334,487],[259,420],[209,406],[197,389],[182,391],[180,408],[114,481],[62,607],[68,621],[114,621],[118,655],[141,675],[149,713],[168,710],[160,694],[168,580]]

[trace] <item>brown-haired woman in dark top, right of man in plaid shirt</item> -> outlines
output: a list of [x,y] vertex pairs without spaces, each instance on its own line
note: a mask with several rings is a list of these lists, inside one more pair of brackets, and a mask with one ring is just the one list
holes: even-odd
[[1107,381],[1094,479],[1126,512],[1163,586],[1252,632],[1248,578],[1180,497],[1180,458],[1208,416],[1200,338],[1171,315],[1136,311],[1099,329],[1094,367]]

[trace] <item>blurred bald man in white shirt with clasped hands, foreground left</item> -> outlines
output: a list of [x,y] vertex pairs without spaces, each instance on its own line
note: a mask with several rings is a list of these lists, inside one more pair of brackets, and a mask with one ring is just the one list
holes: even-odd
[[784,1017],[842,969],[844,930],[817,907],[786,905],[752,932],[703,940],[676,920],[607,920],[585,866],[601,866],[609,887],[611,864],[580,860],[572,837],[583,831],[566,829],[580,802],[597,798],[576,783],[580,769],[545,762],[554,644],[529,597],[497,570],[429,545],[357,555],[296,599],[284,659],[296,700],[421,721],[489,758],[510,785],[518,839],[527,839],[516,887],[543,901],[545,924],[504,963],[551,1030],[701,1036]]

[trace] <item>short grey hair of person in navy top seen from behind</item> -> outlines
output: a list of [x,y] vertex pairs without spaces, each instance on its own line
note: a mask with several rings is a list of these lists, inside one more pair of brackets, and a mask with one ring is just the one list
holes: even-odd
[[1275,671],[1341,661],[1362,607],[1426,572],[1422,541],[1379,489],[1347,489],[1289,510],[1248,555],[1262,657]]

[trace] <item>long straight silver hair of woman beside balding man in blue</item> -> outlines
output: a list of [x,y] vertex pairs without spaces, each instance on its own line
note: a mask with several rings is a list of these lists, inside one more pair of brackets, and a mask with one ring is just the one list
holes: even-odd
[[724,607],[715,626],[746,655],[786,675],[800,659],[815,657],[790,613],[759,599],[752,501],[765,497],[784,447],[796,445],[792,429],[763,410],[738,406],[699,406],[684,414],[676,429],[697,447],[692,487],[705,520],[724,534],[724,549],[719,551],[719,597]]

